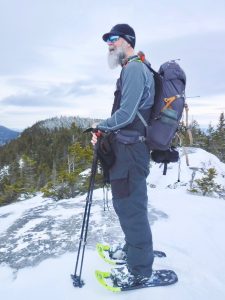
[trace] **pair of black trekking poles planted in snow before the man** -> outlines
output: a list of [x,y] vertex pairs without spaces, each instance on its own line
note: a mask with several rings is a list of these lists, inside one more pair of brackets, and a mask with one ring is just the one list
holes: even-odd
[[[86,132],[88,132],[88,130],[86,130]],[[94,146],[91,176],[89,180],[88,193],[86,197],[86,205],[85,205],[83,222],[82,222],[82,227],[80,232],[80,242],[77,251],[75,271],[74,274],[71,274],[74,287],[80,287],[80,288],[84,285],[84,281],[81,279],[81,273],[82,273],[83,262],[84,262],[84,252],[87,243],[87,233],[88,233],[88,225],[89,225],[89,218],[90,218],[91,205],[92,205],[92,195],[93,195],[93,189],[95,183],[95,175],[97,172],[97,165],[98,165],[98,155],[97,155],[98,141]]]

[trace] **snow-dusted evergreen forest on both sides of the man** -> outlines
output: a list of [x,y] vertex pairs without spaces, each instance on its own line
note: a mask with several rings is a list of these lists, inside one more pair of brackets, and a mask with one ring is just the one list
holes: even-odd
[[[84,193],[88,176],[82,174],[91,166],[93,147],[88,123],[59,120],[41,121],[0,147],[0,205],[29,198],[37,192],[53,199],[65,199]],[[90,121],[91,122],[91,121]],[[46,125],[47,124],[47,125]],[[189,125],[192,147],[202,148],[225,162],[225,118],[222,112],[217,125],[203,130],[196,120]],[[187,128],[180,126],[182,146],[190,146]],[[98,184],[101,185],[101,176]]]

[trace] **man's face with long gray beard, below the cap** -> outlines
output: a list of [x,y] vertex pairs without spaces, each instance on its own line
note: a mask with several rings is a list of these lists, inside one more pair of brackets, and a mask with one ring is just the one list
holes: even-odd
[[126,57],[128,43],[119,37],[116,41],[107,41],[107,44],[109,46],[108,65],[110,69],[115,69],[119,65],[122,65],[122,60]]

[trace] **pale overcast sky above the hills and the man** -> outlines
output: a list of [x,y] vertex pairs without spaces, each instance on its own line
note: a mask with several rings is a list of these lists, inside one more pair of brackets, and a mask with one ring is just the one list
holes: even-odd
[[180,58],[190,119],[225,111],[225,0],[0,0],[0,124],[54,116],[106,118],[120,68],[102,35],[130,24],[155,69]]

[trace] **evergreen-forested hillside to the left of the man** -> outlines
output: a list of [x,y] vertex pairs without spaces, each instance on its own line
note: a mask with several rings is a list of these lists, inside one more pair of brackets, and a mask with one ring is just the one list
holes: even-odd
[[[18,139],[0,147],[0,170],[8,168],[8,175],[0,180],[0,202],[9,203],[42,188],[55,190],[59,198],[60,193],[71,197],[84,191],[86,181],[79,173],[90,167],[89,144],[90,135],[75,123],[47,128],[39,122],[27,128]],[[68,156],[74,160],[71,173]]]

